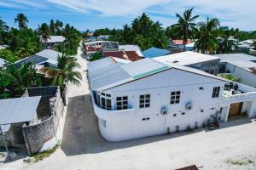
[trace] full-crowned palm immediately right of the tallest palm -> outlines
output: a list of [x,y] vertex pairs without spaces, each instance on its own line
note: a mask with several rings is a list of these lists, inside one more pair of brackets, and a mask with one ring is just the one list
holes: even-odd
[[219,21],[217,18],[200,22],[199,39],[195,42],[195,50],[202,54],[214,54],[218,48],[217,28]]

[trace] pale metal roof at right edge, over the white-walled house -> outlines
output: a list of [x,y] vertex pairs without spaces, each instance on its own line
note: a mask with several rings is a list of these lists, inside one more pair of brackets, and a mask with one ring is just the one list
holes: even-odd
[[[247,54],[216,54],[221,62],[230,63],[241,68],[256,67],[256,57]],[[253,62],[254,61],[254,62]]]

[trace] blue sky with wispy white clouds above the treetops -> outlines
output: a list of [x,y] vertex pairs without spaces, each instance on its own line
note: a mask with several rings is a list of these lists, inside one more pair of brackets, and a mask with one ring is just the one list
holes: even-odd
[[195,8],[194,14],[206,20],[217,17],[222,26],[242,31],[256,30],[256,0],[0,0],[0,17],[15,26],[16,14],[25,14],[28,26],[49,20],[61,20],[79,31],[98,28],[122,28],[145,12],[164,27],[177,22],[175,14]]

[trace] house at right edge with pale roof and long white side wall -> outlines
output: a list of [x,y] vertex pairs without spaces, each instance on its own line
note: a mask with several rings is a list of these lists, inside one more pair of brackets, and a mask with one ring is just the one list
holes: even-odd
[[220,73],[231,73],[240,82],[256,88],[256,57],[247,54],[216,54],[220,58]]

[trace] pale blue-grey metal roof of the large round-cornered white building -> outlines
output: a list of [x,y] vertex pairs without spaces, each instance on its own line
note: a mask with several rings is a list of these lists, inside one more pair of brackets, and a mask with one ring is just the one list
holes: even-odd
[[173,63],[166,65],[155,59],[140,59],[125,63],[122,60],[118,62],[115,58],[108,57],[88,64],[90,87],[93,90],[105,90],[172,68],[228,82],[222,77],[215,77],[205,71]]

